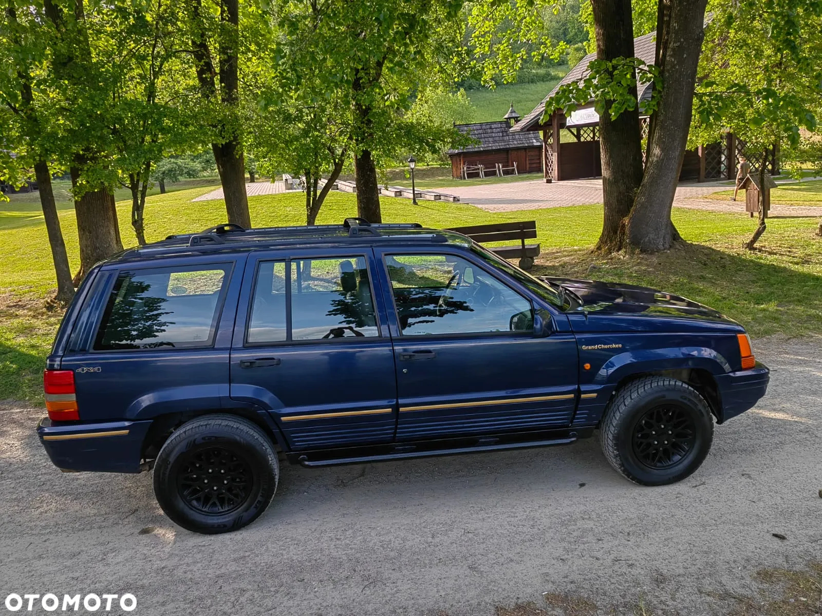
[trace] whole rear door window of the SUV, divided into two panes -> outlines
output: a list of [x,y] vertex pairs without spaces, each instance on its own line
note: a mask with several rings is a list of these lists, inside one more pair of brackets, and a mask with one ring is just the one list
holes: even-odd
[[[291,302],[290,324],[286,319],[287,301]],[[378,335],[363,257],[260,264],[247,342]]]

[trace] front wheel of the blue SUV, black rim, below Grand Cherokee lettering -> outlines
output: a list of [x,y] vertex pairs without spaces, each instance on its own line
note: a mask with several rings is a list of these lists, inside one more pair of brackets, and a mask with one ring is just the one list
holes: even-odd
[[713,441],[708,403],[690,385],[663,376],[636,379],[617,391],[600,428],[607,461],[640,485],[667,485],[690,476]]

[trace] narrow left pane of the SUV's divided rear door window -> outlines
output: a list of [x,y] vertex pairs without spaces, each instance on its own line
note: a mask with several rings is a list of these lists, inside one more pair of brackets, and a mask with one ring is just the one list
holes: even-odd
[[248,342],[285,340],[285,262],[265,261],[257,268]]

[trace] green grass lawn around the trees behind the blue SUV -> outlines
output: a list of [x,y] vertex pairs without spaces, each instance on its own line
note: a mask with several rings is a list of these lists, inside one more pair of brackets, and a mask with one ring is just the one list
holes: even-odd
[[[810,182],[809,182],[810,183]],[[153,195],[145,209],[149,241],[169,233],[192,232],[225,221],[222,201],[191,199],[210,188]],[[264,195],[249,200],[255,226],[295,225],[305,221],[302,194]],[[822,239],[815,218],[773,218],[759,250],[744,251],[755,228],[745,214],[674,209],[673,219],[689,242],[659,255],[616,255],[607,259],[590,249],[602,228],[602,206],[534,209],[495,214],[472,205],[382,198],[386,222],[419,222],[455,227],[535,219],[543,254],[534,274],[618,280],[661,287],[723,311],[750,333],[801,335],[822,331]],[[0,209],[8,204],[0,205]],[[129,225],[130,203],[118,203],[123,243],[136,242]],[[44,224],[29,212],[25,224],[0,211],[0,399],[38,400],[40,371],[62,316],[49,309],[53,265]],[[354,195],[331,193],[318,223],[339,223],[356,215]],[[60,212],[72,269],[79,266],[76,220]],[[595,269],[588,274],[590,265]]]

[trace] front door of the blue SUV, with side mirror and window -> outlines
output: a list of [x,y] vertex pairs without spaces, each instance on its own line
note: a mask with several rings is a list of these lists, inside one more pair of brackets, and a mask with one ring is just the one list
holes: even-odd
[[398,440],[570,425],[575,338],[556,324],[534,337],[535,297],[464,252],[379,255],[394,308]]

